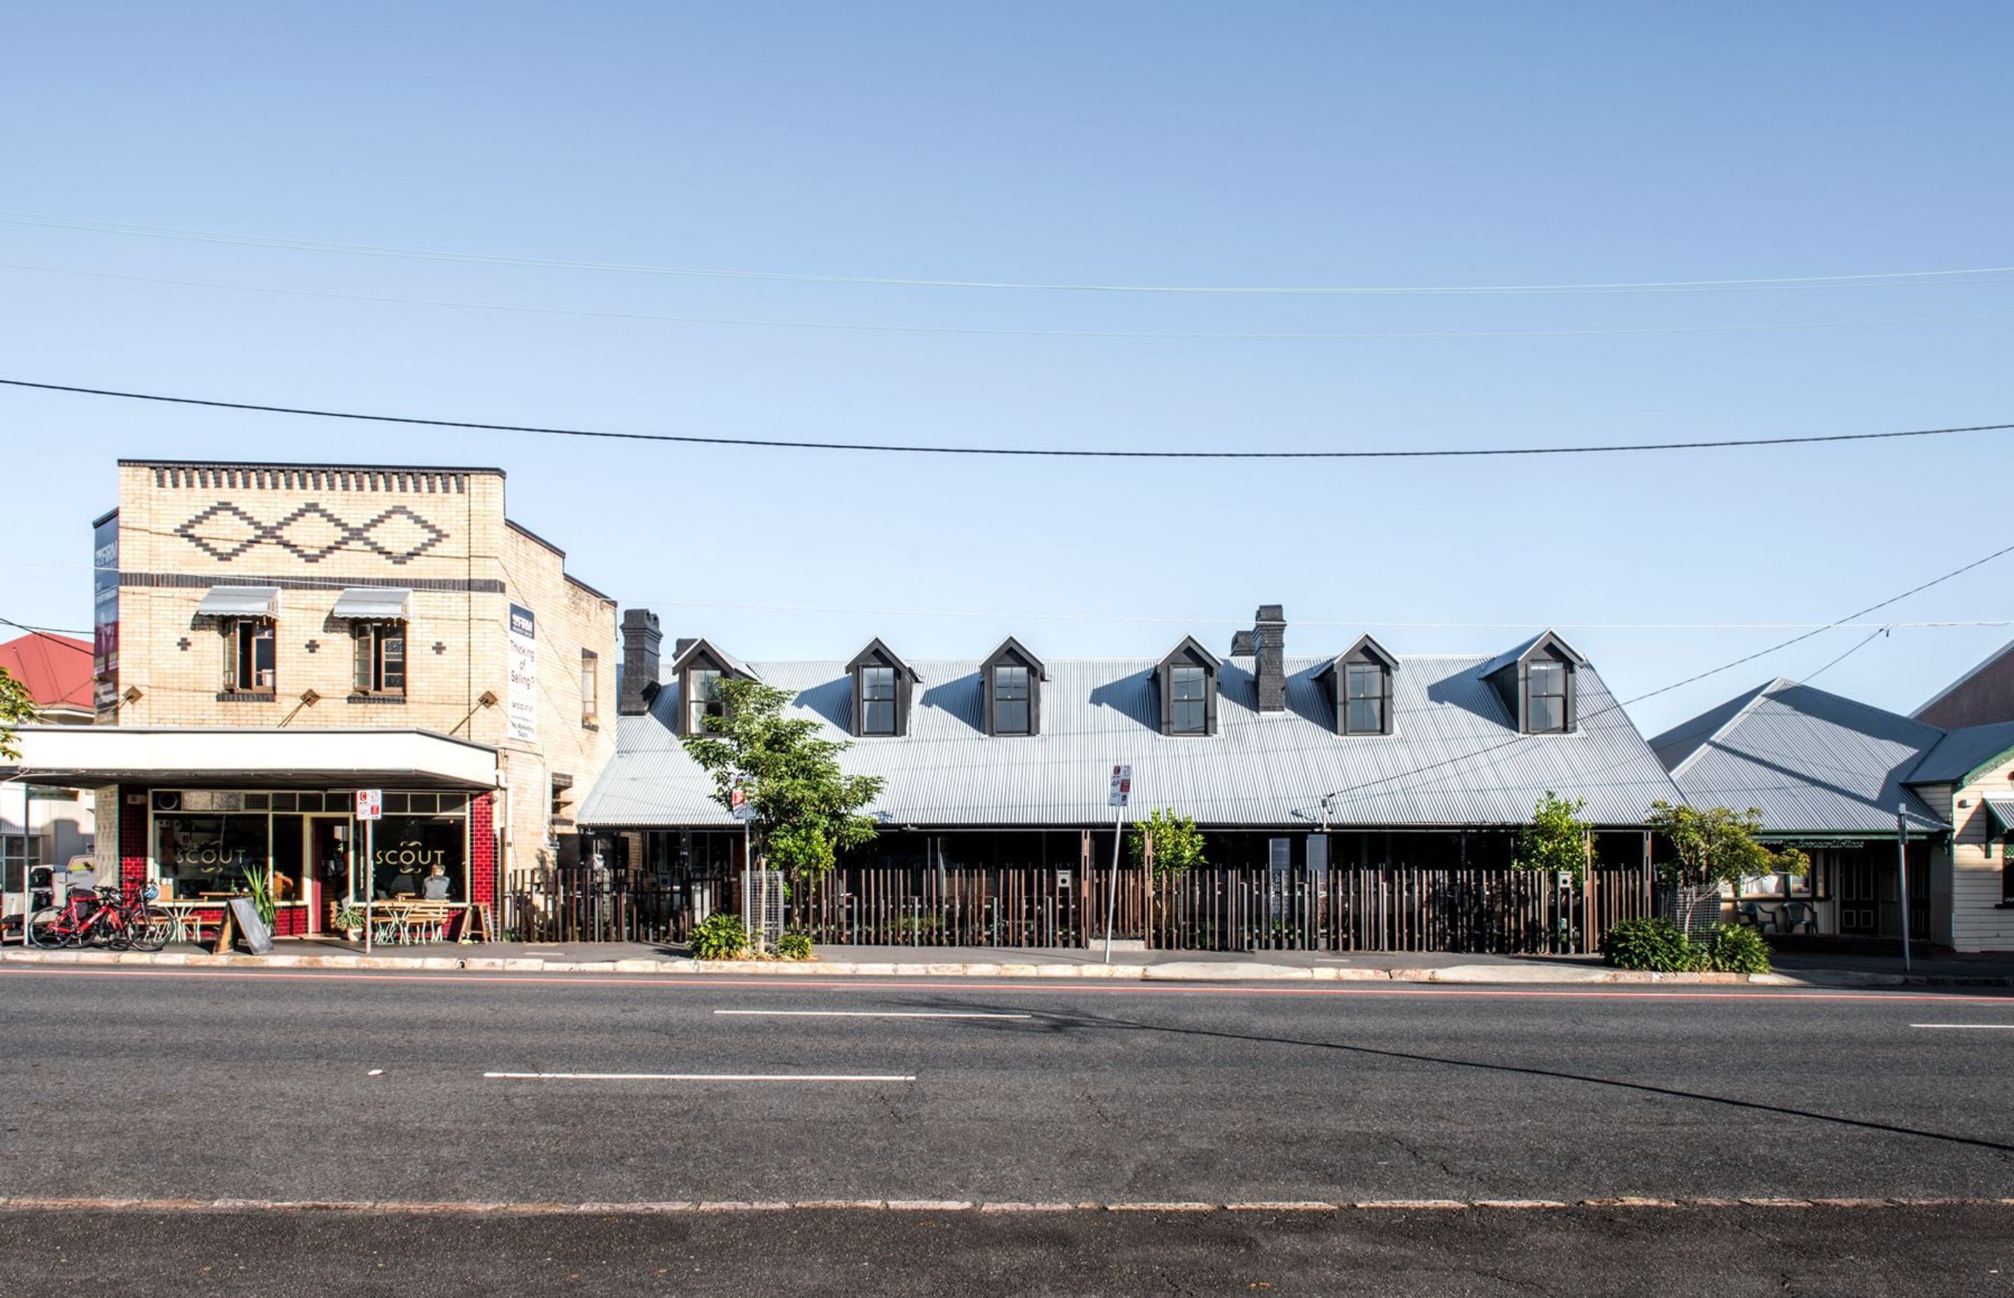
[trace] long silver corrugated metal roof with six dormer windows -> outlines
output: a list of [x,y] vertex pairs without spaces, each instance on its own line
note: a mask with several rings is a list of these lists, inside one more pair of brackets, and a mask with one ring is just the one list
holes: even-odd
[[[888,780],[892,824],[1106,824],[1116,762],[1134,766],[1134,806],[1174,806],[1200,824],[1335,826],[1517,824],[1547,790],[1587,798],[1597,824],[1637,824],[1653,798],[1676,800],[1664,766],[1593,673],[1581,669],[1581,730],[1521,736],[1482,681],[1482,657],[1406,657],[1392,673],[1394,734],[1337,736],[1315,673],[1331,659],[1287,659],[1287,709],[1255,709],[1253,659],[1220,671],[1218,734],[1158,732],[1158,659],[1051,661],[1041,734],[985,734],[979,661],[916,663],[910,732],[852,740],[840,764]],[[848,738],[844,663],[755,663],[832,738]],[[586,796],[582,824],[727,826],[711,780],[671,732],[677,687],[651,716],[620,718],[616,756]]]

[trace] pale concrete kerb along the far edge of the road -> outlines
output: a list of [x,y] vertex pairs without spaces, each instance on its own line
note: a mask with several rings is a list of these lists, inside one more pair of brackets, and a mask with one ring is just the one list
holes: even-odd
[[[479,949],[479,947],[477,947]],[[1486,963],[1363,969],[1343,965],[1271,965],[1257,961],[1162,961],[1146,965],[1021,963],[1021,961],[846,961],[846,959],[540,959],[526,955],[209,955],[191,951],[34,951],[4,949],[0,963],[119,965],[169,969],[377,969],[469,974],[733,974],[759,978],[1019,978],[1092,982],[1372,982],[1372,984],[1498,984],[1498,986],[1768,986],[1768,988],[2008,988],[2014,978],[1937,974],[1869,974],[1815,969],[1805,974],[1647,974],[1633,969],[1541,963]]]

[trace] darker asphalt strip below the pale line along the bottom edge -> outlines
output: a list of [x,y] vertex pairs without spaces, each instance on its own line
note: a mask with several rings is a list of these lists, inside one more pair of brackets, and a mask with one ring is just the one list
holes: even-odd
[[[1879,1215],[1873,1215],[1879,1213]],[[455,1219],[0,1211],[0,1296],[773,1298],[2014,1292],[2006,1209]]]

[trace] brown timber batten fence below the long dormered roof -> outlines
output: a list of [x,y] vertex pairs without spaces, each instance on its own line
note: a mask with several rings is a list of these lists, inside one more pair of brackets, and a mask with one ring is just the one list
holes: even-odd
[[[1106,931],[1108,869],[856,867],[789,899],[785,927],[820,945],[1084,947]],[[1647,867],[1597,867],[1579,885],[1502,867],[1351,865],[1122,869],[1112,931],[1170,951],[1593,953],[1623,919],[1649,917]],[[735,877],[594,883],[526,871],[503,897],[518,941],[683,943],[735,911]]]

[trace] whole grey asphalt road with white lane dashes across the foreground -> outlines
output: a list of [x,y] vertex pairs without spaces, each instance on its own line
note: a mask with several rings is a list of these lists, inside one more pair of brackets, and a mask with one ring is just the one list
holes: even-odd
[[[2014,1030],[2002,1028],[2014,1028],[2004,994],[6,969],[0,1195],[2006,1199]],[[808,1074],[832,1080],[775,1080]],[[1758,1234],[1764,1217],[1772,1225]],[[298,1274],[324,1278],[356,1242],[383,1244],[373,1256],[389,1274],[373,1284],[389,1288],[350,1292],[387,1294],[475,1292],[485,1268],[506,1262],[514,1278],[548,1284],[546,1256],[576,1270],[657,1260],[649,1276],[600,1272],[608,1290],[594,1288],[590,1268],[588,1288],[566,1292],[634,1292],[638,1278],[665,1280],[665,1292],[725,1292],[723,1274],[679,1272],[681,1250],[701,1266],[777,1264],[757,1292],[836,1292],[814,1282],[844,1280],[854,1260],[882,1268],[882,1292],[932,1278],[941,1288],[914,1292],[1001,1292],[989,1272],[1001,1258],[1029,1268],[1009,1292],[1178,1292],[1188,1280],[1194,1292],[1289,1282],[1355,1292],[1341,1274],[1386,1276],[1382,1292],[1517,1292],[1575,1274],[1561,1258],[1583,1254],[1607,1256],[1595,1270],[1613,1284],[1643,1268],[1666,1282],[1573,1292],[1684,1292],[1678,1282],[1696,1274],[1748,1276],[1768,1292],[1784,1292],[1786,1278],[1799,1282],[1790,1288],[1831,1278],[1809,1292],[1960,1292],[1937,1288],[1958,1280],[1964,1292],[1994,1292],[2006,1284],[1996,1272],[2014,1272],[2014,1207],[1978,1205],[1281,1221],[812,1209],[508,1221],[42,1211],[0,1221],[0,1264],[26,1268],[0,1274],[40,1282],[75,1278],[77,1258],[89,1258],[107,1284],[131,1284],[115,1272],[133,1250],[70,1258],[62,1229],[155,1240],[153,1252],[199,1242],[218,1256],[209,1272],[155,1272],[179,1292],[310,1292],[242,1288],[240,1262],[224,1262],[272,1258],[290,1240],[308,1250]],[[1037,1244],[1039,1258],[1027,1252]],[[70,1260],[52,1262],[50,1248]],[[425,1258],[427,1270],[397,1258]],[[1063,1268],[1071,1258],[1082,1266]],[[1841,1258],[1857,1262],[1841,1272]],[[1941,1270],[1923,1270],[1929,1258],[1944,1258]],[[1281,1278],[1247,1276],[1241,1260],[1277,1262]],[[1404,1288],[1436,1274],[1444,1284]],[[399,1288],[415,1276],[441,1286]],[[783,1282],[792,1276],[798,1288]],[[455,1288],[463,1282],[471,1288]],[[562,1292],[526,1284],[512,1292]]]

